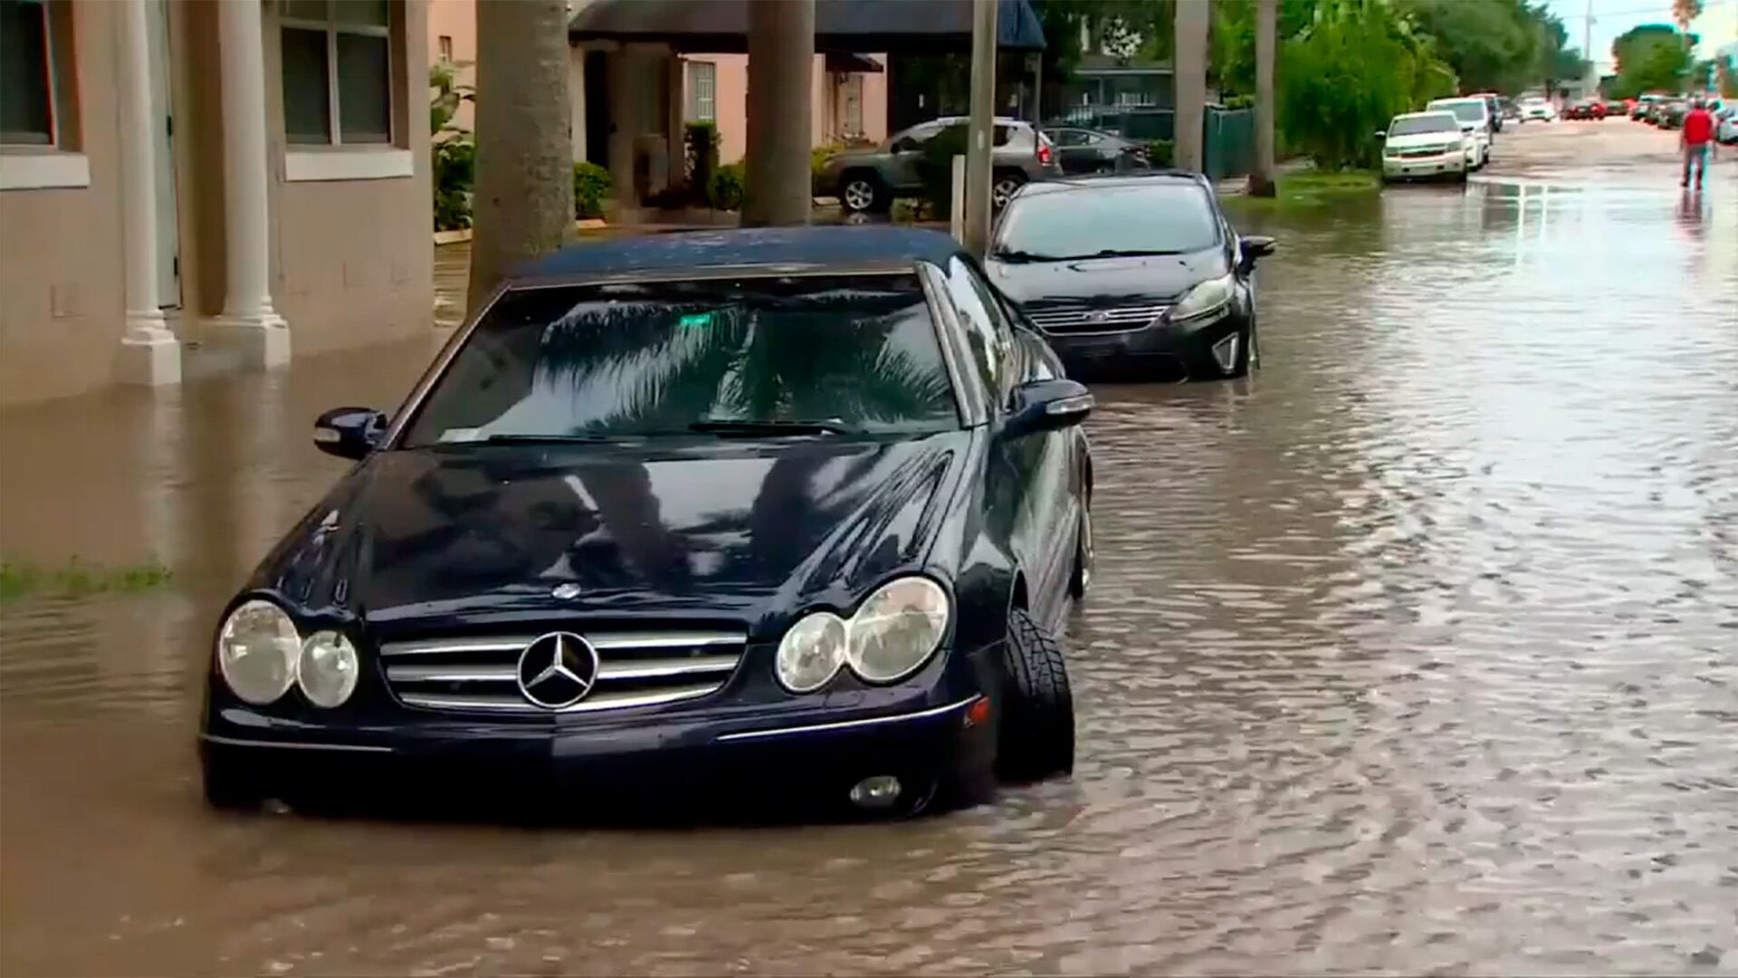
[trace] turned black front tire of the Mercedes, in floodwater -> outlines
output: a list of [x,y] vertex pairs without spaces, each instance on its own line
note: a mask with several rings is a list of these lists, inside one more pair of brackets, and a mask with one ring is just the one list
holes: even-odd
[[1003,660],[996,774],[1005,781],[1038,781],[1072,771],[1074,694],[1062,642],[1017,607],[1008,613]]

